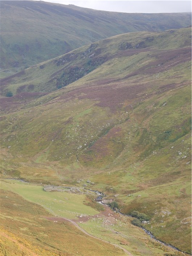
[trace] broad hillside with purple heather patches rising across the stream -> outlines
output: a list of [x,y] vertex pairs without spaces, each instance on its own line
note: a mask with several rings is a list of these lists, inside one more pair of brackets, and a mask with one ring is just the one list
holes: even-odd
[[117,35],[3,79],[16,94],[1,97],[3,177],[86,183],[190,252],[190,37]]

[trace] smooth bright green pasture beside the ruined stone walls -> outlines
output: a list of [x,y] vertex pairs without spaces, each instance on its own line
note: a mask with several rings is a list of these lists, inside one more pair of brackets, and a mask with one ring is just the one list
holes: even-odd
[[84,205],[85,195],[67,192],[45,192],[41,185],[28,184],[16,180],[1,181],[1,189],[10,190],[24,199],[40,204],[53,215],[77,219],[76,215],[95,215],[99,212]]

